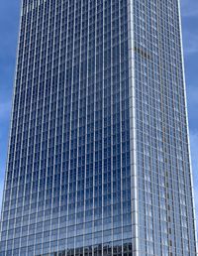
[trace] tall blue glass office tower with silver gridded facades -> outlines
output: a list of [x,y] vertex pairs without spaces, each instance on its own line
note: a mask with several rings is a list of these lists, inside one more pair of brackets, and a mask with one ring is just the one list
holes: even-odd
[[195,256],[177,0],[23,0],[0,256]]

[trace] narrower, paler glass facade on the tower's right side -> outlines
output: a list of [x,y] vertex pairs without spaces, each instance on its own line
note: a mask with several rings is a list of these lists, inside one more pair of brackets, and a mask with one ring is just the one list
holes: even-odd
[[197,255],[178,1],[134,1],[140,255]]

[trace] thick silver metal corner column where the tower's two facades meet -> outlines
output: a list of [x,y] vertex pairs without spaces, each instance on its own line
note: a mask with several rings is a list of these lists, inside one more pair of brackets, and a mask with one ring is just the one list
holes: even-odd
[[135,1],[128,0],[128,33],[129,33],[129,93],[130,93],[130,151],[131,151],[131,198],[133,222],[133,253],[139,256],[139,214],[138,214],[138,161],[137,161],[137,117],[136,117],[136,90],[135,90]]

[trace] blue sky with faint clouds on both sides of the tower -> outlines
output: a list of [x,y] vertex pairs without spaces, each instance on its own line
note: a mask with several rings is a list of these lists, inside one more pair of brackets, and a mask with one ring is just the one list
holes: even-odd
[[[2,197],[10,126],[12,89],[19,29],[19,0],[0,3],[0,201]],[[198,213],[198,1],[181,0],[188,117]],[[0,206],[1,207],[1,206]]]

